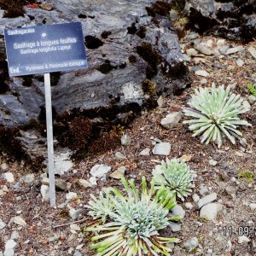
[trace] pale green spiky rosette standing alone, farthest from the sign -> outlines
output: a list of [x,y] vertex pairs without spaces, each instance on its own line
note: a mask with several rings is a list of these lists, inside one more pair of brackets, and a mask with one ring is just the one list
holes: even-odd
[[235,144],[235,137],[242,136],[241,132],[236,130],[237,125],[251,125],[237,117],[238,114],[249,110],[241,104],[243,100],[240,95],[232,93],[229,96],[229,93],[229,86],[226,90],[223,85],[216,89],[215,84],[212,83],[212,90],[207,88],[195,90],[189,102],[191,108],[183,108],[184,114],[193,118],[183,123],[189,124],[189,130],[194,131],[193,137],[202,134],[201,143],[208,144],[214,141],[220,148],[224,136]]

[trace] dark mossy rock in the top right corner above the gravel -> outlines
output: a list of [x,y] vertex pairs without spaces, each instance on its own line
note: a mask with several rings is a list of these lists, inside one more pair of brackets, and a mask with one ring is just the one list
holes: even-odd
[[256,36],[255,0],[187,0],[184,12],[197,32],[245,42]]

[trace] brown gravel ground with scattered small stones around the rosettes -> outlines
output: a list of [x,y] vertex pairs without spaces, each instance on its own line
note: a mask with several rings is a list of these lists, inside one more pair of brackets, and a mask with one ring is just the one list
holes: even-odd
[[[254,175],[256,171],[255,102],[249,112],[241,115],[241,119],[247,119],[253,125],[241,129],[246,143],[233,145],[225,141],[221,148],[215,144],[202,144],[198,137],[191,137],[188,126],[183,125],[184,118],[171,131],[160,125],[160,120],[167,113],[182,111],[187,106],[195,88],[210,87],[212,82],[217,85],[230,84],[236,94],[249,100],[247,84],[253,81],[249,79],[256,79],[256,65],[248,49],[256,49],[256,44],[253,42],[241,45],[195,34],[192,38],[182,38],[180,42],[184,53],[187,52],[188,55],[187,49],[194,49],[200,43],[211,50],[219,50],[224,46],[230,49],[240,46],[243,49],[233,54],[217,56],[202,54],[195,47],[198,51],[188,61],[191,88],[184,90],[180,96],[163,97],[161,107],[143,112],[125,130],[131,137],[129,146],[120,145],[102,155],[90,156],[74,163],[73,170],[60,177],[67,182],[67,189],[57,190],[56,207],[49,207],[49,201],[42,198],[40,191],[43,171],[33,173],[31,180],[20,183],[20,188],[15,189],[14,185],[20,177],[29,177],[27,174],[31,174],[32,169],[22,162],[10,160],[6,154],[1,155],[0,173],[12,173],[14,181],[8,182],[0,176],[0,255],[3,255],[4,250],[4,256],[94,255],[89,249],[91,234],[83,232],[84,226],[90,224],[84,205],[89,201],[90,193],[97,194],[102,187],[119,186],[120,182],[108,174],[106,180],[99,180],[96,186],[84,188],[78,184],[78,180],[89,180],[90,168],[96,164],[111,166],[110,174],[125,166],[125,177],[134,178],[137,184],[142,176],[149,180],[154,167],[166,158],[152,153],[155,140],[171,143],[169,159],[186,155],[187,164],[197,175],[192,195],[184,202],[177,200],[177,204],[185,211],[185,217],[180,222],[181,230],[171,232],[172,236],[180,239],[171,255],[256,255],[256,184],[254,179],[251,183],[247,178],[239,177],[241,170],[248,170]],[[206,76],[195,74],[198,70],[206,71]],[[145,148],[150,148],[150,154],[140,155]],[[118,159],[115,155],[117,152],[123,154],[125,159]],[[67,200],[70,192],[76,195]],[[206,220],[200,217],[195,194],[202,198],[213,193],[217,195],[213,202],[218,203],[221,210],[216,218]],[[71,209],[77,211],[77,216],[71,214]],[[7,251],[6,246],[9,244]]]

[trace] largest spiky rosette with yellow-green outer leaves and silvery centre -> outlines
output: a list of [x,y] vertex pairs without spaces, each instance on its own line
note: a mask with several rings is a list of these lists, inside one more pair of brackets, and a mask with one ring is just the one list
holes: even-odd
[[[93,244],[91,248],[96,249],[97,256],[156,256],[160,253],[170,255],[171,249],[166,247],[165,243],[177,242],[178,239],[159,236],[158,230],[166,228],[170,220],[181,219],[181,217],[167,217],[172,207],[176,206],[175,196],[166,195],[164,190],[156,191],[154,183],[148,190],[145,177],[143,177],[141,195],[132,180],[127,182],[124,177],[121,180],[127,195],[122,195],[119,189],[108,188],[108,200],[113,206],[113,211],[108,212],[107,222],[85,229],[85,231],[103,232],[92,237],[92,241],[101,241]],[[95,202],[94,198],[93,201]],[[99,201],[105,202],[102,197]],[[89,203],[89,214],[93,218],[96,217],[93,212],[101,205],[94,202]],[[93,207],[96,208],[91,212]],[[102,218],[102,215],[99,218]]]

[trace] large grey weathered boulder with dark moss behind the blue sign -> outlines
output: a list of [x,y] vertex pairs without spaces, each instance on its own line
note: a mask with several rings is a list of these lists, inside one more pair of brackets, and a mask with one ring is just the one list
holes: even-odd
[[[169,22],[171,1],[54,0],[55,9],[25,8],[25,15],[3,18],[0,29],[80,21],[89,67],[52,73],[57,139],[70,143],[76,116],[93,125],[131,120],[157,96],[180,93],[189,84],[177,35]],[[0,125],[43,127],[44,76],[9,79],[1,38]],[[100,120],[100,121],[99,121]],[[42,125],[43,124],[43,125]],[[61,138],[61,134],[69,138]],[[31,141],[17,139],[33,158]],[[28,136],[30,137],[30,136]],[[38,137],[38,134],[37,134]],[[89,137],[89,136],[88,136]],[[39,139],[40,140],[40,139]],[[62,142],[63,143],[63,142]],[[65,144],[65,143],[64,143]],[[42,150],[41,150],[42,151]]]

